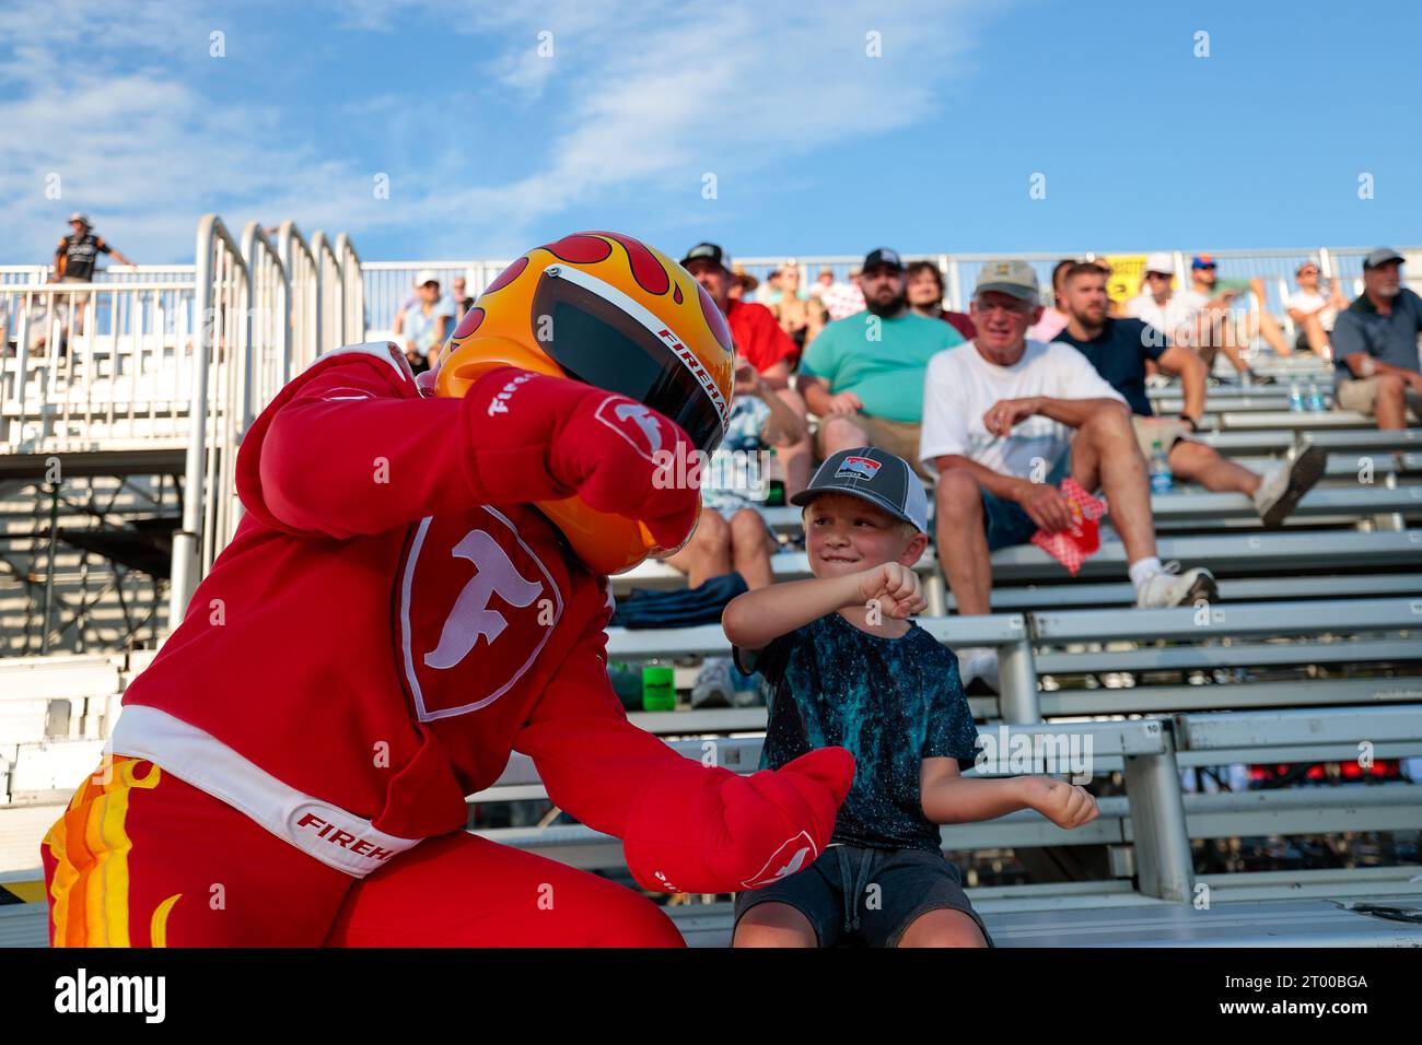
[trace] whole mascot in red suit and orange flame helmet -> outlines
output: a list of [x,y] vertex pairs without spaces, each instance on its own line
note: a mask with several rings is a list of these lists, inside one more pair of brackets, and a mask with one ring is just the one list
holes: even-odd
[[707,768],[607,680],[607,574],[685,543],[700,495],[665,462],[725,424],[705,291],[631,237],[567,236],[438,363],[417,382],[392,344],[340,348],[253,424],[232,545],[41,846],[54,945],[680,945],[637,893],[465,833],[510,751],[646,889],[822,852],[849,752]]

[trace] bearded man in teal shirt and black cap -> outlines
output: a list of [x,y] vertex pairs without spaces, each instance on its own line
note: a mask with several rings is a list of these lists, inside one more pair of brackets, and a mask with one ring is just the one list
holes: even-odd
[[798,387],[820,418],[819,456],[880,446],[931,481],[919,461],[923,377],[929,360],[963,337],[909,310],[903,260],[889,247],[869,252],[859,286],[866,311],[826,326],[801,358]]

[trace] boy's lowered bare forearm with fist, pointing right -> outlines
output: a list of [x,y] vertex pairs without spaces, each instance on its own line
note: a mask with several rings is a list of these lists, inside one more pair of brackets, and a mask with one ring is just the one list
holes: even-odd
[[926,758],[920,772],[923,815],[933,823],[993,820],[1018,809],[1035,809],[1058,827],[1081,827],[1096,819],[1096,799],[1049,776],[968,779],[956,758]]

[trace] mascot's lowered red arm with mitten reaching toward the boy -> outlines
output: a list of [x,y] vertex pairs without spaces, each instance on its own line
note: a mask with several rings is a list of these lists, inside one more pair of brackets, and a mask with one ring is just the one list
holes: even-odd
[[725,893],[809,866],[853,779],[843,748],[738,776],[684,758],[627,721],[596,645],[574,651],[513,746],[533,758],[549,798],[623,839],[646,889]]

